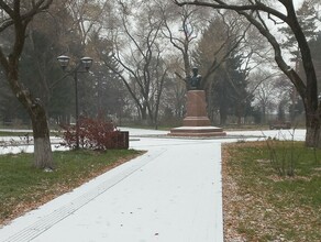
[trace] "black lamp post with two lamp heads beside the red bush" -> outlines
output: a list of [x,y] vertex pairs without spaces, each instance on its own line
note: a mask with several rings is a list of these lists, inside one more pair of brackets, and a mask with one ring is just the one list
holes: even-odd
[[60,55],[57,57],[64,72],[69,75],[74,75],[75,80],[75,96],[76,96],[76,148],[79,148],[79,107],[78,107],[78,73],[88,73],[92,65],[92,58],[82,57],[79,64],[71,70],[66,70],[69,65],[70,57],[66,55]]

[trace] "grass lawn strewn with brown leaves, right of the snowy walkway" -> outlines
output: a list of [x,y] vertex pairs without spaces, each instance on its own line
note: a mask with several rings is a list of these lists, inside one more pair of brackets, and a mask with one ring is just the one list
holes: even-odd
[[[248,142],[224,145],[222,156],[225,241],[321,241],[320,150]],[[292,163],[295,176],[279,176],[276,162]]]

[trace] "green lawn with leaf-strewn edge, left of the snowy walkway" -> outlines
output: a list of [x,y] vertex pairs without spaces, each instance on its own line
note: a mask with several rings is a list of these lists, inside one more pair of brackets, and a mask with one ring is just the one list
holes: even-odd
[[141,154],[133,150],[54,152],[55,172],[34,168],[32,154],[0,155],[0,224]]

